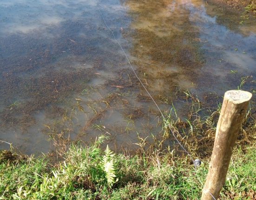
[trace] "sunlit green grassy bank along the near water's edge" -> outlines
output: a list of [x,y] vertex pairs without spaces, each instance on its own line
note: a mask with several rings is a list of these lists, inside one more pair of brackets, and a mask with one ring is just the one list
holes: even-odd
[[[64,160],[54,166],[47,156],[21,158],[2,151],[0,199],[200,199],[208,158],[195,170],[189,158],[176,155],[174,150],[115,155],[108,148],[101,150],[105,139],[100,137],[86,147],[71,145]],[[239,146],[234,150],[221,200],[253,199],[250,195],[256,191],[255,147],[246,147],[246,153]],[[112,178],[107,174],[108,161]]]

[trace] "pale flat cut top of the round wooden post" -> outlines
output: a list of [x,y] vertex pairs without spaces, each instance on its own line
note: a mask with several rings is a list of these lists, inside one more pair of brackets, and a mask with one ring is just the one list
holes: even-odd
[[234,104],[247,102],[251,99],[252,94],[243,90],[229,90],[225,92],[224,98],[227,98]]

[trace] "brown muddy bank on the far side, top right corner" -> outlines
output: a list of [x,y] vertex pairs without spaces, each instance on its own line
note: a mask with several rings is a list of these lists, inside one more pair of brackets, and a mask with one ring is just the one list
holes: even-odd
[[256,17],[256,1],[255,0],[207,0],[209,3],[225,6],[230,10],[244,12]]

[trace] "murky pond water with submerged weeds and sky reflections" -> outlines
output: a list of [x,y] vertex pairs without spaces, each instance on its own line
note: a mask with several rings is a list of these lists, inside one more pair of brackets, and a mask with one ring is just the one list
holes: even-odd
[[32,154],[50,151],[59,134],[90,142],[104,133],[116,150],[162,134],[159,111],[97,5],[166,114],[173,103],[184,116],[181,90],[205,100],[242,77],[253,88],[256,21],[205,1],[1,0],[1,141]]

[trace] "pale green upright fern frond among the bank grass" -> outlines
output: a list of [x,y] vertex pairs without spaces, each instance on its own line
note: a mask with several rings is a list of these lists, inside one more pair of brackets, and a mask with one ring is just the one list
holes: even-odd
[[118,181],[116,179],[116,169],[115,169],[115,160],[114,160],[114,153],[110,150],[110,148],[106,147],[105,155],[103,156],[103,168],[105,171],[107,183],[109,187],[112,187],[115,182]]

